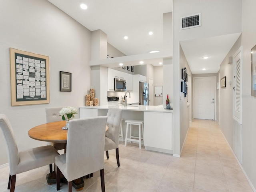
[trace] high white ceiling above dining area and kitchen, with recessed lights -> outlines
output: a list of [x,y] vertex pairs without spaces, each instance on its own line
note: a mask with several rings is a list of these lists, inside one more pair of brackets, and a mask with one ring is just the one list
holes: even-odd
[[[90,31],[102,30],[108,43],[126,55],[162,50],[163,13],[171,0],[48,0]],[[80,8],[83,2],[86,10]],[[161,3],[160,3],[161,2]],[[153,35],[148,32],[153,31]],[[124,36],[128,36],[124,40]]]

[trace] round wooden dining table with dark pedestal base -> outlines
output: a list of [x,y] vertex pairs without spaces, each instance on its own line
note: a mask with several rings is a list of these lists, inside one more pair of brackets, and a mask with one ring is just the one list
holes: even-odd
[[[66,121],[56,121],[49,122],[45,124],[41,124],[31,128],[28,131],[28,136],[32,139],[46,142],[54,142],[54,143],[67,143],[68,130],[62,129],[66,125]],[[106,131],[108,131],[108,126],[106,126]],[[66,145],[64,149],[64,153],[66,153]],[[92,177],[92,174],[90,174]],[[87,178],[89,175],[86,176]],[[56,174],[55,171],[46,175],[46,179],[48,184],[56,183]],[[66,182],[66,179],[61,178],[61,182]],[[73,181],[74,188],[78,190],[82,190],[84,187],[83,178],[79,178]]]

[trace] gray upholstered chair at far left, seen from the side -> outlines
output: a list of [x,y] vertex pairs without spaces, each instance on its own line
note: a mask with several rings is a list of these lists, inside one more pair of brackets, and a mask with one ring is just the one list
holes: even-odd
[[52,164],[59,153],[53,146],[36,147],[19,152],[12,126],[5,114],[0,114],[0,127],[4,134],[10,166],[7,189],[14,192],[16,174]]

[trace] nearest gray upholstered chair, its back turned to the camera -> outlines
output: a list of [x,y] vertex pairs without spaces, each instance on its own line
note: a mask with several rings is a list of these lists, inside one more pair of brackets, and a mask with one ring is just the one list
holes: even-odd
[[100,170],[101,188],[104,184],[104,137],[106,116],[70,120],[68,124],[67,150],[56,156],[57,190],[60,190],[60,171],[72,191],[72,180]]

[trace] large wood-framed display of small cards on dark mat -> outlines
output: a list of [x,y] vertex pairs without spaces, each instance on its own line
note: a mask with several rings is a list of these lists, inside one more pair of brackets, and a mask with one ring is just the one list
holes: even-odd
[[10,48],[11,104],[50,103],[49,57]]

